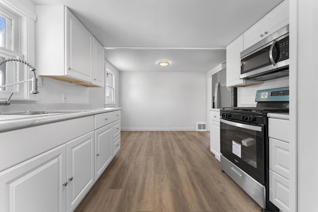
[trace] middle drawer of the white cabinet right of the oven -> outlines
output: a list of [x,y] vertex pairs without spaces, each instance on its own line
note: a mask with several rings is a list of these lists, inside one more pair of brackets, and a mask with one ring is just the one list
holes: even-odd
[[289,179],[289,143],[269,138],[269,168]]

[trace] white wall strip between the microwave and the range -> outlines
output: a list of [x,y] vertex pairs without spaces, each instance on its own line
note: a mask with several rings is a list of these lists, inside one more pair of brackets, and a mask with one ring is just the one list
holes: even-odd
[[264,81],[263,84],[238,88],[238,107],[256,107],[255,94],[257,90],[288,87],[289,76]]

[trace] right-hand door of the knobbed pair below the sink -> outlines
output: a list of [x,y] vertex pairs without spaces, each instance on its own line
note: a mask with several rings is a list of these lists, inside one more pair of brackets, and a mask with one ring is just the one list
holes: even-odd
[[67,211],[71,212],[95,182],[94,132],[67,143],[67,179]]

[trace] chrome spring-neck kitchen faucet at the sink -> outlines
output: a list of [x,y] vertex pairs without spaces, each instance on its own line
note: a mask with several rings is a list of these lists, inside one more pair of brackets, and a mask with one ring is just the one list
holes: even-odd
[[[31,79],[27,79],[27,80],[23,80],[23,81],[19,81],[19,82],[14,82],[11,84],[0,85],[0,88],[32,81],[32,90],[30,91],[30,93],[33,93],[33,94],[39,93],[39,91],[38,91],[38,79],[36,78],[35,68],[33,66],[31,66],[29,63],[27,63],[26,61],[23,61],[20,59],[15,59],[15,58],[9,58],[9,59],[2,61],[0,63],[0,66],[6,62],[9,62],[9,61],[16,61],[16,62],[20,62],[20,63],[25,64],[29,68],[30,71],[33,71],[34,77],[32,77]],[[13,92],[11,92],[11,94],[7,100],[0,100],[0,106],[10,105],[10,98],[12,95],[13,95]]]

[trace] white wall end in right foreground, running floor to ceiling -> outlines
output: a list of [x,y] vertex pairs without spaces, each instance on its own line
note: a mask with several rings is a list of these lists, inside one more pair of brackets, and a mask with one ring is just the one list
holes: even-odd
[[[290,36],[295,42],[295,69],[293,84],[296,89],[292,145],[297,142],[298,151],[298,212],[318,211],[318,1],[291,0],[291,17],[293,17],[294,34]],[[297,9],[298,8],[298,11]],[[294,18],[295,17],[295,18]],[[292,21],[291,20],[291,21]],[[290,42],[292,44],[292,42]],[[298,49],[297,49],[298,48]],[[297,59],[297,58],[296,58]],[[295,126],[296,125],[296,126]],[[295,138],[296,136],[296,138]]]

